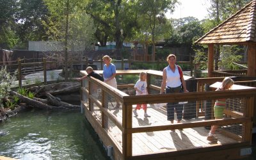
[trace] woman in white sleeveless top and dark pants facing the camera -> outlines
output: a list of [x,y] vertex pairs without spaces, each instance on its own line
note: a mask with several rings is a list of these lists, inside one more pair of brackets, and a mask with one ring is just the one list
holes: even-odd
[[[174,54],[169,54],[166,61],[169,65],[163,70],[163,81],[160,93],[164,93],[164,88],[166,90],[165,93],[188,92],[182,69],[178,65],[175,65],[176,56]],[[173,124],[174,120],[174,108],[177,113],[177,123],[180,123],[180,120],[182,119],[183,105],[178,103],[167,103],[167,120],[169,120],[171,124]]]

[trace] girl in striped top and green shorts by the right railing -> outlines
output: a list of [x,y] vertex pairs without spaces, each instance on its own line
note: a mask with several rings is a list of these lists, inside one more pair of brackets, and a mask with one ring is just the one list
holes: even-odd
[[[216,89],[216,91],[221,90],[230,90],[234,84],[234,81],[230,79],[229,77],[225,77],[223,79],[221,86]],[[214,104],[214,117],[215,119],[222,119],[223,118],[223,111],[226,106],[226,99],[217,99]],[[212,143],[216,143],[218,141],[218,138],[214,135],[216,132],[216,129],[218,128],[218,125],[212,125],[211,130],[207,136],[207,140],[211,141]]]

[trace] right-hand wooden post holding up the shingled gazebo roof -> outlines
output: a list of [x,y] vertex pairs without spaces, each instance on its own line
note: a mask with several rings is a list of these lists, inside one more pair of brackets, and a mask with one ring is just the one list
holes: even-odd
[[248,44],[248,52],[247,52],[247,76],[255,77],[256,76],[256,48],[254,43]]

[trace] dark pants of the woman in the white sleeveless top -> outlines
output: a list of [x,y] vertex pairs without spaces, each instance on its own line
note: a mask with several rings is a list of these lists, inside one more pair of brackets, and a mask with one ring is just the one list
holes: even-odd
[[[180,93],[182,92],[181,86],[177,88],[166,88],[165,93]],[[178,120],[182,119],[182,110],[183,110],[183,105],[179,104],[179,102],[172,102],[172,103],[167,103],[167,120],[174,120],[174,108],[176,109],[177,113],[177,118]]]

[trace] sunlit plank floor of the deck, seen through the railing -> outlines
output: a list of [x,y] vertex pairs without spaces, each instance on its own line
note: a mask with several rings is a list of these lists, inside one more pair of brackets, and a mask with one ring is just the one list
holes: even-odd
[[[111,104],[110,104],[111,105]],[[115,106],[115,105],[113,105]],[[135,108],[135,105],[132,106]],[[114,109],[109,108],[111,113],[116,116],[116,119],[122,123],[122,108]],[[167,121],[166,108],[156,108],[156,106],[148,105],[148,115],[151,117],[145,118],[143,109],[138,111],[139,116],[132,115],[132,127],[147,127],[154,125],[169,125]],[[95,106],[93,111],[95,118],[100,120],[99,108]],[[176,116],[175,116],[176,119]],[[182,120],[182,123],[188,123],[191,121],[202,121],[204,118],[195,118],[190,120]],[[174,123],[177,123],[176,121]],[[141,132],[132,134],[132,156],[156,154],[161,152],[170,152],[177,150],[186,150],[191,148],[203,148],[216,145],[237,143],[236,140],[228,138],[220,134],[216,134],[218,137],[218,143],[210,143],[206,140],[209,130],[205,127],[195,127],[187,129],[176,129],[173,131],[157,131],[157,132]],[[118,127],[109,120],[108,134],[115,141],[118,148],[122,148],[122,132]]]

